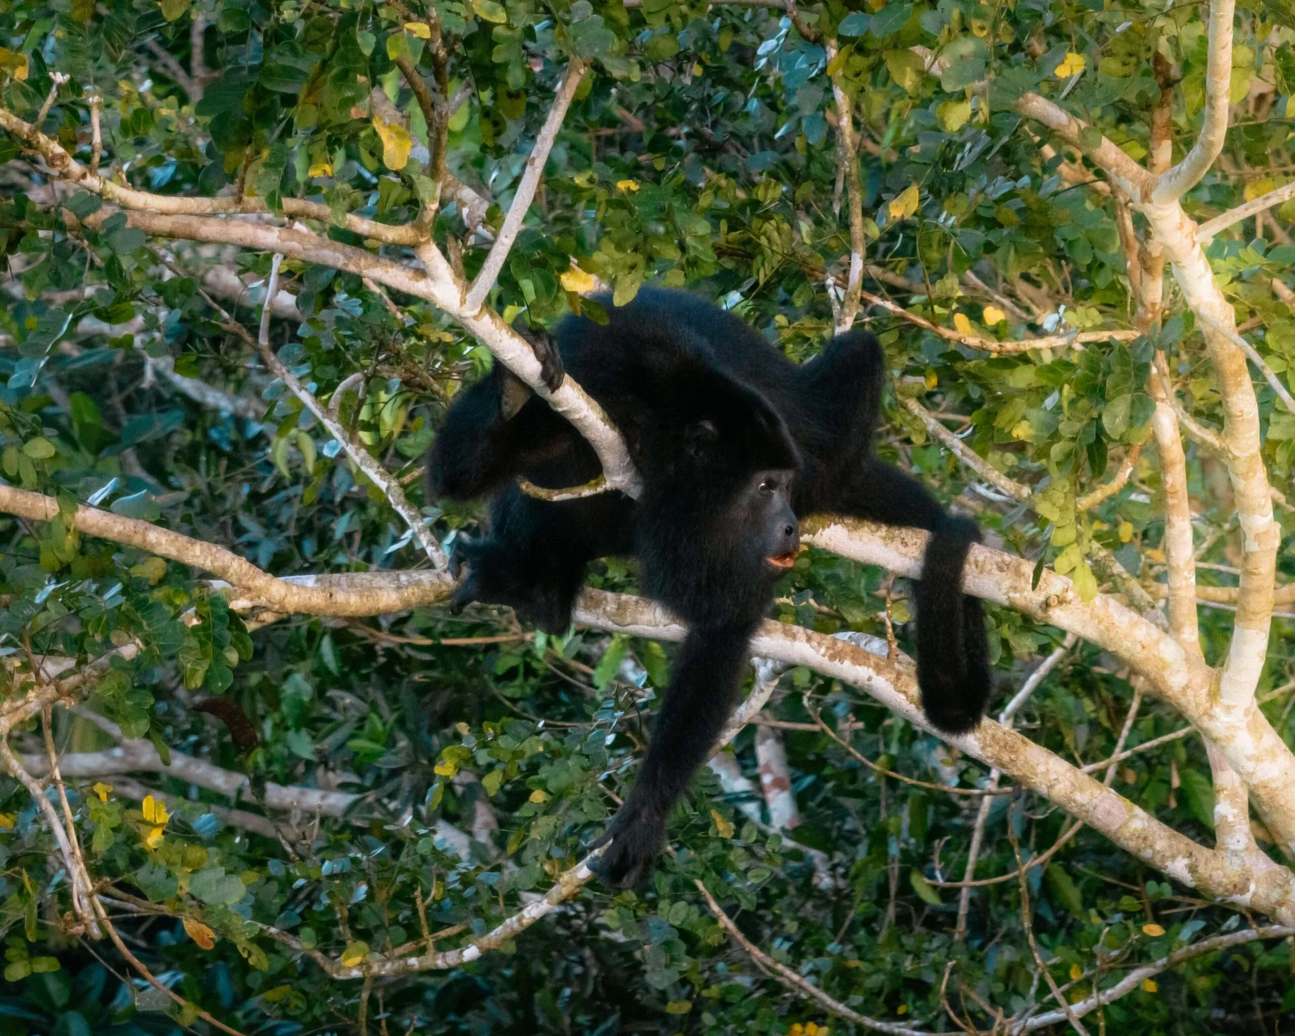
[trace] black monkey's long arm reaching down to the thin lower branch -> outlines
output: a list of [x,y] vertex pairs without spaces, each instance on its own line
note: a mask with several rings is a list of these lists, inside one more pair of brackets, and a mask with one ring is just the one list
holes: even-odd
[[693,627],[653,724],[648,755],[624,805],[597,844],[603,877],[637,884],[666,844],[666,820],[715,749],[737,703],[754,624]]

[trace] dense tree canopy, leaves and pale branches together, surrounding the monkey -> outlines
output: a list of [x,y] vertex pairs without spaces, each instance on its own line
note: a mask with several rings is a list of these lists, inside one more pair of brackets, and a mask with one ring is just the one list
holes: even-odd
[[[1290,1031],[1292,95],[1287,0],[0,0],[0,1033]],[[879,337],[997,693],[805,522],[616,891],[682,629],[451,614],[422,465],[502,363],[636,493],[513,325],[644,284]]]

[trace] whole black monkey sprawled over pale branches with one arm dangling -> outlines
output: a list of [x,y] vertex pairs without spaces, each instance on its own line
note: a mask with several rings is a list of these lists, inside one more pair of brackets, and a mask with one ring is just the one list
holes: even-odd
[[870,456],[884,377],[875,338],[850,332],[795,364],[695,295],[644,287],[624,307],[598,302],[609,322],[566,317],[557,350],[624,435],[644,480],[638,500],[522,493],[518,477],[565,488],[601,467],[579,433],[501,364],[451,408],[429,483],[438,497],[491,497],[488,535],[461,537],[455,550],[456,575],[467,567],[456,607],[509,605],[563,632],[588,562],[636,554],[644,592],[688,622],[648,755],[603,838],[605,875],[632,884],[663,847],[671,807],[736,703],[747,642],[795,559],[798,515],[931,531],[916,587],[918,682],[931,723],[951,733],[975,726],[991,675],[980,602],[961,591],[975,523]]

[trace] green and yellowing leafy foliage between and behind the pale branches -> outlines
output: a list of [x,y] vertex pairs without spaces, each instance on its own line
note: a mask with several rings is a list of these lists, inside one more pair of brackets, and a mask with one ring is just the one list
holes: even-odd
[[[1243,117],[1226,161],[1186,199],[1202,218],[1279,186],[1290,170],[1295,27],[1276,0],[1241,6],[1232,100]],[[1031,89],[1064,96],[1141,158],[1160,54],[1181,76],[1176,137],[1190,140],[1206,65],[1198,6],[829,0],[798,12],[799,25],[790,12],[679,0],[0,0],[0,105],[39,115],[83,164],[101,107],[101,170],[114,183],[255,199],[271,216],[287,201],[320,202],[333,240],[386,254],[400,249],[347,229],[347,214],[401,225],[439,197],[434,238],[471,277],[563,69],[584,58],[593,70],[500,273],[496,308],[550,325],[570,310],[597,312],[581,294],[594,276],[615,302],[648,281],[688,285],[803,360],[830,337],[826,282],[844,282],[851,247],[835,78],[861,137],[870,291],[993,342],[1129,326],[1114,202],[1072,175],[1075,155],[1042,150],[1010,102]],[[401,73],[408,65],[435,85],[442,44],[447,97],[458,101],[445,158],[486,199],[483,225],[431,179],[435,136]],[[70,80],[56,88],[54,73]],[[91,710],[172,765],[183,756],[234,780],[218,789],[164,767],[126,780],[70,776],[82,843],[110,882],[117,923],[164,983],[231,1024],[352,1031],[360,984],[325,980],[310,954],[354,967],[425,952],[429,931],[436,948],[458,945],[461,932],[479,935],[546,891],[628,787],[668,650],[585,629],[531,635],[487,607],[258,627],[271,616],[240,614],[202,572],[78,531],[75,505],[88,502],[229,546],[277,575],[422,561],[378,488],[215,308],[219,299],[251,328],[269,256],[149,238],[123,214],[96,223],[100,198],[56,186],[14,136],[0,139],[0,163],[9,271],[0,470],[58,501],[45,523],[0,517],[0,690],[25,693],[28,657],[83,663],[139,644],[95,684]],[[1287,202],[1208,249],[1238,321],[1281,377],[1295,365],[1292,216]],[[212,268],[241,275],[241,286],[214,280]],[[464,528],[475,513],[421,500],[414,475],[448,399],[490,354],[430,304],[398,297],[388,306],[352,273],[289,258],[282,286],[297,315],[272,325],[280,359],[408,483],[438,536]],[[879,451],[974,509],[1006,549],[1070,572],[1085,593],[1098,589],[1097,548],[1150,587],[1164,561],[1155,464],[1140,458],[1096,508],[1079,500],[1149,439],[1156,350],[1193,414],[1221,421],[1190,313],[1173,298],[1166,304],[1172,319],[1133,341],[1002,355],[870,311],[896,387]],[[1264,460],[1283,486],[1295,418],[1267,385],[1257,391]],[[985,490],[930,442],[899,405],[904,396],[939,409],[974,452],[1030,484],[1028,506]],[[1202,558],[1224,566],[1202,579],[1229,585],[1241,550],[1230,491],[1207,453],[1193,449],[1190,460]],[[1289,531],[1290,513],[1278,517]],[[1289,546],[1279,566],[1295,574]],[[609,559],[591,583],[632,591],[635,571]],[[800,557],[777,616],[878,636],[892,622],[908,644],[905,588],[826,553]],[[1230,614],[1206,610],[1202,623],[1216,662]],[[1286,625],[1260,701],[1290,741]],[[991,636],[1005,690],[1062,641],[1006,609],[992,613]],[[978,890],[967,935],[956,938],[958,894],[941,882],[962,874],[979,800],[861,765],[805,703],[883,769],[962,787],[983,785],[983,771],[856,689],[803,668],[781,688],[771,712],[794,725],[782,733],[798,828],[771,831],[758,796],[703,773],[672,818],[676,853],[653,883],[615,895],[592,884],[499,952],[376,982],[363,993],[369,1031],[818,1033],[844,1024],[756,970],[706,909],[697,879],[755,943],[860,1013],[951,1031],[940,992],[948,974],[953,1009],[984,1024],[978,1005],[1009,1014],[1040,1005],[1014,879]],[[1132,697],[1125,670],[1080,648],[1020,719],[1039,743],[1093,763],[1115,750]],[[206,707],[212,698],[224,704]],[[1180,725],[1143,704],[1125,743]],[[110,747],[101,728],[56,712],[65,760]],[[39,721],[12,739],[25,759],[44,751]],[[750,729],[736,751],[755,773]],[[1211,838],[1198,739],[1129,756],[1116,781],[1159,818]],[[350,798],[316,816],[273,808],[275,787]],[[1033,796],[995,798],[978,875],[1015,868],[1005,831],[1032,859],[1067,826]],[[66,875],[44,816],[8,777],[0,828],[0,1033],[194,1024],[190,1009],[123,979],[130,969],[111,953],[69,943]],[[1052,971],[1076,997],[1092,989],[1094,969],[1105,980],[1242,921],[1087,830],[1028,872],[1028,894]],[[1283,1024],[1295,1010],[1290,953],[1285,943],[1251,943],[1194,958],[1107,1006],[1109,1031],[1232,1032],[1256,1015]]]

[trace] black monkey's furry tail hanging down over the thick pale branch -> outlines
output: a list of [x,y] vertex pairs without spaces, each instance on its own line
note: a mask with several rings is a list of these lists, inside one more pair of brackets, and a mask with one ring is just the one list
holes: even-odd
[[917,584],[917,682],[922,710],[945,733],[970,730],[984,715],[992,676],[984,611],[962,593],[962,567],[980,531],[948,515],[931,532]]

